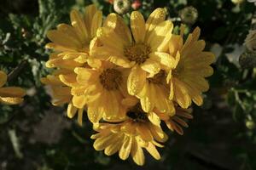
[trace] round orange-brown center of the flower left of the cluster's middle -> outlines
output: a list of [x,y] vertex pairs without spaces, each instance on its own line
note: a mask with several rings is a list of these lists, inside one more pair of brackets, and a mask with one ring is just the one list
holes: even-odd
[[100,82],[103,88],[107,90],[116,90],[119,88],[119,84],[122,81],[122,74],[115,69],[106,69],[100,75]]

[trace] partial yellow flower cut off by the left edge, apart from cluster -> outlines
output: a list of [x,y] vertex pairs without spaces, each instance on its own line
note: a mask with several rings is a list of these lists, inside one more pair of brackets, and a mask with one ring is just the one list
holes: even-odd
[[0,102],[7,105],[17,105],[23,101],[26,91],[17,87],[4,87],[7,81],[7,75],[0,71]]

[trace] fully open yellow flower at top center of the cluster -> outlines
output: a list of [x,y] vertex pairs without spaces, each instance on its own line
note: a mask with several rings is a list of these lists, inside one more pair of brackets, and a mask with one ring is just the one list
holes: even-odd
[[129,94],[137,95],[144,87],[148,88],[145,85],[147,77],[172,67],[173,59],[166,53],[171,36],[172,22],[166,20],[164,8],[155,9],[146,22],[143,14],[132,12],[131,31],[119,15],[109,14],[104,26],[97,31],[90,53],[97,59],[131,68],[127,89]]

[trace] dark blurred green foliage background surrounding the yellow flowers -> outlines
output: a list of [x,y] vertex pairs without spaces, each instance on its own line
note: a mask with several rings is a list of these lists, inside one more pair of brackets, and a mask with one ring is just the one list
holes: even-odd
[[[127,22],[132,10],[147,17],[164,7],[174,33],[181,24],[186,34],[200,26],[207,50],[217,56],[204,105],[193,106],[194,119],[183,136],[166,129],[170,138],[160,149],[160,161],[146,155],[145,165],[137,167],[130,158],[121,161],[94,150],[90,122],[79,127],[68,119],[66,106],[52,106],[40,82],[51,71],[44,66],[46,32],[69,24],[70,10],[83,11],[90,3]],[[1,0],[0,70],[11,73],[9,86],[26,88],[27,95],[21,105],[0,105],[0,169],[256,169],[255,9],[246,0],[134,0],[125,8],[114,8],[111,0]]]

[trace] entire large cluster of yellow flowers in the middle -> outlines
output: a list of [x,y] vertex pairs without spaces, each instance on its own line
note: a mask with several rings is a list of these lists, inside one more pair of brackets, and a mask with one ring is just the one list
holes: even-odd
[[[157,160],[157,147],[167,135],[161,126],[183,134],[191,119],[192,101],[202,105],[202,93],[209,85],[214,55],[203,51],[200,29],[183,42],[172,34],[166,10],[156,8],[144,20],[131,13],[131,26],[118,14],[108,14],[95,5],[70,14],[71,25],[61,24],[49,31],[46,66],[55,71],[42,78],[53,94],[53,105],[67,106],[67,116],[78,114],[82,125],[86,111],[96,130],[94,148],[108,156],[119,152],[143,165],[143,149]],[[161,123],[163,122],[163,123]]]

